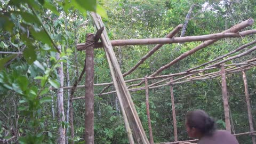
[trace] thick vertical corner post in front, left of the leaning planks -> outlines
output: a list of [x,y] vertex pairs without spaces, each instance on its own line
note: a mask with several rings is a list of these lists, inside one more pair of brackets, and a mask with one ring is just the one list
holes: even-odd
[[86,60],[85,60],[85,143],[94,143],[94,96],[93,96],[93,82],[94,82],[94,62],[93,62],[93,48],[94,48],[94,36],[93,34],[87,34],[86,43],[89,46],[86,48]]

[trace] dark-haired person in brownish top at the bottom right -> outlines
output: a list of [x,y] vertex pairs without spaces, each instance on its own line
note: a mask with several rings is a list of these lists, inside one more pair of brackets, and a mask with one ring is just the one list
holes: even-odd
[[236,138],[226,130],[217,130],[213,118],[203,110],[190,111],[186,115],[189,137],[199,139],[198,144],[238,144]]

